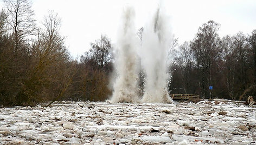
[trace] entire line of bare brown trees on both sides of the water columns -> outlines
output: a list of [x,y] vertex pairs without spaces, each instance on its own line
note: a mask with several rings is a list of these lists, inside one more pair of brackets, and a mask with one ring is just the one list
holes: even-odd
[[[104,101],[111,96],[110,38],[101,35],[79,61],[73,60],[65,37],[60,35],[61,20],[57,14],[49,12],[42,27],[38,27],[29,0],[4,2],[0,12],[0,106],[35,106],[60,100]],[[220,38],[219,27],[209,21],[199,28],[192,41],[181,45],[175,41],[178,49],[172,51],[175,57],[169,69],[170,93],[232,100],[255,96],[256,30],[249,35],[239,32]],[[138,37],[142,43],[143,28]],[[140,89],[143,76],[139,79]]]

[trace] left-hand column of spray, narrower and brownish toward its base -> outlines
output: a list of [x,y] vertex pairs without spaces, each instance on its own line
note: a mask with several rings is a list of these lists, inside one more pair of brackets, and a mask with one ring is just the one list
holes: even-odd
[[111,102],[138,102],[138,39],[134,24],[135,10],[124,9],[115,48],[116,82],[113,84]]

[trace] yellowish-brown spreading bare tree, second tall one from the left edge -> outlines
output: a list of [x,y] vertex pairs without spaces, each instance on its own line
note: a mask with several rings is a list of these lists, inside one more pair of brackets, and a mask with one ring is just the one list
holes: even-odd
[[[44,75],[41,77],[48,81],[48,96],[58,100],[72,83],[76,71],[74,62],[70,62],[69,53],[65,47],[65,37],[60,35],[61,19],[54,11],[44,17],[44,28],[40,34],[40,41],[36,49],[37,63],[35,64]],[[45,81],[45,82],[47,82]]]

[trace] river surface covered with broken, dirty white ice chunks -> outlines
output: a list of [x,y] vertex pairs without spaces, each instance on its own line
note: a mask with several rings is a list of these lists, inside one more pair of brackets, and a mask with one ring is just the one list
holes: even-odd
[[0,108],[0,144],[256,144],[256,108],[55,102]]

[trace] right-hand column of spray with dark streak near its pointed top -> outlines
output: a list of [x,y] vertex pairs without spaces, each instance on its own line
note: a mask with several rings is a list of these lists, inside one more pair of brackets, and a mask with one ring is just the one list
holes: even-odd
[[146,80],[142,102],[172,103],[167,89],[169,74],[167,60],[169,42],[171,40],[169,18],[164,15],[161,6],[158,7],[143,32],[142,63]]

